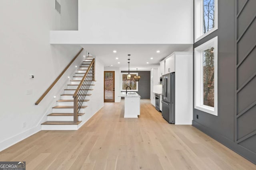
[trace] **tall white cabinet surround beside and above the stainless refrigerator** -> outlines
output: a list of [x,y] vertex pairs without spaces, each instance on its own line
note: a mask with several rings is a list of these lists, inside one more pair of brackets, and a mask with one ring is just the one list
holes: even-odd
[[174,52],[166,57],[165,74],[170,72],[175,72],[175,124],[192,125],[193,53]]

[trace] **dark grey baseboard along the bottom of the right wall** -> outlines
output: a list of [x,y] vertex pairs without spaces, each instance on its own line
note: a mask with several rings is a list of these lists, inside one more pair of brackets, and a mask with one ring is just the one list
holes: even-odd
[[256,153],[242,147],[241,145],[234,143],[234,141],[231,141],[230,139],[220,135],[219,133],[213,131],[212,129],[194,120],[192,121],[192,125],[197,129],[199,129],[200,131],[204,132],[206,135],[209,135],[216,141],[220,142],[221,144],[225,145],[229,149],[233,150],[237,154],[243,156],[244,158],[250,160],[252,163],[256,164]]

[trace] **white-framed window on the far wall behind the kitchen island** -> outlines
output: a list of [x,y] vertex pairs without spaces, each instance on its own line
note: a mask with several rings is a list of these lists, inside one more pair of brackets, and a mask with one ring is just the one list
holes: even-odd
[[136,82],[136,80],[134,79],[134,76],[138,76],[138,73],[130,73],[131,74],[131,78],[130,80],[127,80],[127,72],[122,72],[121,73],[121,81],[122,81],[122,90],[121,91],[126,91],[126,87],[130,86],[130,88],[127,89],[127,91],[135,91],[138,92],[138,82]]

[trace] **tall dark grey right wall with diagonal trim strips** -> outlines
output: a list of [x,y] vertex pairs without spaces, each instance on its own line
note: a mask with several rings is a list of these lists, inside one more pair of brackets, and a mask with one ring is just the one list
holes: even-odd
[[[256,1],[218,0],[218,116],[194,109],[193,125],[256,164]],[[238,15],[239,14],[239,15]],[[198,115],[198,119],[196,118]]]

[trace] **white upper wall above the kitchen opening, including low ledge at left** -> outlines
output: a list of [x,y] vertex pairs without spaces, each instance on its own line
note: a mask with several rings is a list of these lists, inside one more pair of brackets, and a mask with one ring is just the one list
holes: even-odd
[[79,31],[52,31],[51,43],[193,43],[192,0],[78,0],[78,4]]

